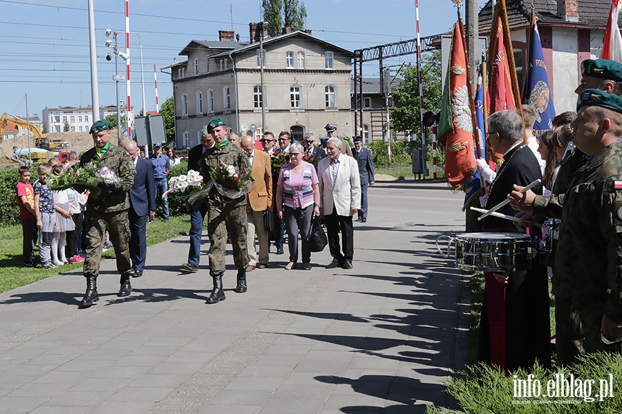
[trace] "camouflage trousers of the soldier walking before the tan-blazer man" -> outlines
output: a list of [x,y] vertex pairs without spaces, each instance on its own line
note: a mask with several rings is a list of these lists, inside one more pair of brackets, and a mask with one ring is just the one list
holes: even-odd
[[236,268],[246,268],[248,252],[246,250],[246,206],[209,206],[207,210],[207,235],[209,236],[209,275],[225,273],[225,251],[227,232],[231,237]]

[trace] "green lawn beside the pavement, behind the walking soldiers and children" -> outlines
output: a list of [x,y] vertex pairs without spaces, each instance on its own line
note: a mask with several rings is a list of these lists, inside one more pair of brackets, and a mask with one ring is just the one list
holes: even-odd
[[[156,219],[147,224],[147,246],[164,242],[173,237],[185,235],[190,229],[190,216],[171,217],[168,223]],[[53,269],[23,267],[21,256],[21,225],[0,228],[0,293],[19,286],[37,282],[59,272],[81,268],[82,263],[70,263]],[[104,252],[105,259],[115,257],[113,249]],[[35,261],[38,262],[38,250],[35,248]]]

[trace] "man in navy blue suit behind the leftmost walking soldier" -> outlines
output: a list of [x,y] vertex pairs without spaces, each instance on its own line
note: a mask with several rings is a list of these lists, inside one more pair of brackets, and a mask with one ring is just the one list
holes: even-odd
[[147,216],[156,215],[156,182],[151,162],[140,157],[140,148],[135,141],[126,141],[124,148],[136,169],[134,184],[129,191],[130,257],[132,277],[141,277],[147,259]]

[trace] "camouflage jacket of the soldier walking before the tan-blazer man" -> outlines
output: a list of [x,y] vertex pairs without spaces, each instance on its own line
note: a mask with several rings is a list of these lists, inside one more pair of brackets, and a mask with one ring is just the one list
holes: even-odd
[[[227,166],[234,166],[240,175],[247,174],[252,170],[248,157],[242,148],[231,143],[228,143],[222,150],[218,150],[216,146],[213,146],[209,148],[209,150],[205,150],[205,152],[203,152],[203,155],[199,161],[199,167],[201,175],[203,176],[204,184],[213,178],[211,177],[211,172],[218,168],[220,163]],[[232,203],[232,206],[235,207],[246,206],[246,198],[244,196],[232,200],[220,195],[215,187],[211,189],[207,198],[210,205],[224,206],[225,204]]]

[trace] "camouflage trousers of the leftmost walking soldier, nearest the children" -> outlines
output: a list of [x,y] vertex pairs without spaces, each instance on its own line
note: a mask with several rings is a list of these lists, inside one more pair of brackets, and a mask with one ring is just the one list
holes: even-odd
[[132,262],[129,254],[129,219],[127,210],[114,213],[98,213],[88,211],[84,232],[86,237],[86,258],[84,259],[84,276],[97,276],[100,273],[102,250],[106,242],[106,230],[117,256],[117,270],[122,276],[129,275]]

